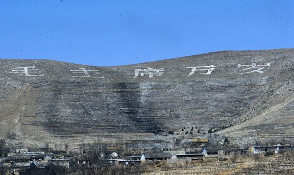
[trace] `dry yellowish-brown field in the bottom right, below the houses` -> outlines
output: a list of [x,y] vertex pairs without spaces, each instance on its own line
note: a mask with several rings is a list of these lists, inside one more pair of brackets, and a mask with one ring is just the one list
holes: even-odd
[[[185,167],[185,168],[183,168]],[[293,175],[294,157],[238,158],[234,161],[201,162],[193,165],[158,167],[144,175]]]

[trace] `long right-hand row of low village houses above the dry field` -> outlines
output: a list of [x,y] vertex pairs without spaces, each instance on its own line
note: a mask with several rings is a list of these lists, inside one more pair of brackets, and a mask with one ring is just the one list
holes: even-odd
[[[203,148],[201,152],[189,152],[185,150],[163,150],[159,153],[143,153],[142,155],[126,156],[126,158],[113,158],[106,159],[111,163],[141,163],[146,161],[162,161],[166,160],[167,163],[174,162],[192,162],[197,160],[209,161],[209,160],[223,160],[229,156],[243,155],[249,156],[254,154],[260,154],[264,152],[279,153],[280,151],[293,150],[292,146],[282,146],[280,144],[273,146],[252,146],[248,149],[235,149],[228,147],[221,148]],[[114,152],[115,153],[115,152]],[[115,153],[116,154],[116,153]],[[117,155],[117,154],[116,154]]]

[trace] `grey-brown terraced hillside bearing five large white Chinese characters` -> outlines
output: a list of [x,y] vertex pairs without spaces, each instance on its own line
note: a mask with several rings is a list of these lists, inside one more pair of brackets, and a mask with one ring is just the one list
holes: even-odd
[[231,139],[294,137],[294,49],[119,67],[0,59],[0,68],[0,137],[15,130],[29,144],[144,137],[195,125],[233,125],[219,131]]

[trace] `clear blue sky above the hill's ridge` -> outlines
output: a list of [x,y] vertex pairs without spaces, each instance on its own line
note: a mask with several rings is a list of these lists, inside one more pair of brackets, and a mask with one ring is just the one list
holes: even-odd
[[294,48],[294,0],[1,0],[0,58],[95,66]]

